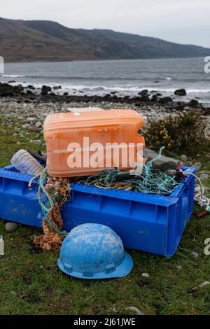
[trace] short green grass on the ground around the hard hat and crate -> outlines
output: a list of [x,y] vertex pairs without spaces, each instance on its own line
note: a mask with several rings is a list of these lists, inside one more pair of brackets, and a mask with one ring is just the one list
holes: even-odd
[[[13,137],[22,123],[0,121],[0,165],[8,165],[20,148],[38,149],[29,140]],[[20,142],[17,144],[17,141]],[[40,148],[40,147],[39,147]],[[197,159],[198,161],[199,159]],[[209,159],[210,160],[210,159]],[[207,159],[204,169],[210,169]],[[208,183],[209,182],[205,182]],[[195,212],[202,209],[195,207]],[[13,233],[0,234],[5,241],[5,255],[0,256],[0,314],[132,314],[126,307],[138,307],[144,314],[209,314],[210,285],[190,289],[210,281],[210,256],[204,255],[204,240],[210,237],[210,216],[200,220],[195,214],[183,234],[179,251],[173,258],[130,251],[134,260],[132,273],[123,279],[88,281],[62,274],[57,268],[59,253],[37,251],[31,246],[40,230],[20,225]],[[200,254],[199,258],[191,255]],[[178,269],[181,265],[183,269]],[[142,272],[150,277],[144,279]]]

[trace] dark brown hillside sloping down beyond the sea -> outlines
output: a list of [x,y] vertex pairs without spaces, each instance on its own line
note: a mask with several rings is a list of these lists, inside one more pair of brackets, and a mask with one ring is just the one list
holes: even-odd
[[106,29],[69,29],[45,20],[0,18],[6,62],[202,57],[210,49]]

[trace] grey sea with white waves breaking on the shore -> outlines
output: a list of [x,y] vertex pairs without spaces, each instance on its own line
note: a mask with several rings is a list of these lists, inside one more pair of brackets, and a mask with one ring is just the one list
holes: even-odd
[[[177,59],[127,59],[75,62],[6,63],[1,82],[15,81],[41,87],[61,85],[55,93],[74,95],[116,94],[137,96],[144,89],[188,102],[197,99],[210,104],[210,73],[205,73],[204,57]],[[175,97],[185,88],[186,97]],[[210,105],[209,105],[210,106]]]

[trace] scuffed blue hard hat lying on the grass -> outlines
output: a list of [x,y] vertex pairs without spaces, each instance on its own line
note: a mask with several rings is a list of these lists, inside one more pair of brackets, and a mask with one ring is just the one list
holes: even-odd
[[133,260],[116,232],[105,225],[87,223],[66,236],[57,264],[77,278],[106,279],[129,274]]

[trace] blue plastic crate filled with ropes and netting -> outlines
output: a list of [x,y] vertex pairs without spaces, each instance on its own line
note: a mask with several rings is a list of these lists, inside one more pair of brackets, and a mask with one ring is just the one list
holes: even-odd
[[[196,169],[184,167],[195,173]],[[0,218],[41,228],[37,183],[29,190],[31,176],[14,167],[0,169]],[[186,179],[169,195],[146,195],[122,190],[103,190],[71,185],[71,201],[62,210],[68,232],[83,223],[110,226],[127,248],[172,256],[193,211],[195,178]]]

